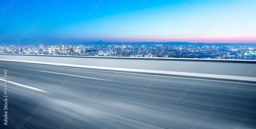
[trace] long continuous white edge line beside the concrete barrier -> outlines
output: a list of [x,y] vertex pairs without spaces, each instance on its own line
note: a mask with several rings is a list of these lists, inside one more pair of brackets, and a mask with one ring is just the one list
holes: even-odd
[[[3,62],[10,62],[10,61],[3,61]],[[12,63],[20,63],[20,62],[12,62]],[[33,64],[33,63],[24,63],[24,64],[39,65],[39,64]],[[49,65],[40,65],[40,66],[49,66]],[[60,68],[69,68],[69,69],[73,69],[73,68],[70,68],[70,67],[61,67],[61,66],[51,66],[51,67],[60,67]],[[76,69],[80,69],[80,68],[76,68]],[[91,70],[91,69],[81,69],[81,70]],[[113,72],[113,71],[104,71],[104,70],[92,70],[92,71]],[[113,72],[113,73],[125,73],[125,72]],[[161,76],[161,75],[148,75],[148,74],[138,74],[138,73],[125,73],[125,74],[136,74],[136,75],[147,75],[147,76]],[[180,79],[191,79],[191,80],[203,80],[203,81],[214,81],[214,82],[227,82],[227,81],[217,81],[217,80],[207,80],[207,79],[193,79],[193,78],[182,78],[182,77],[173,77],[173,76],[161,76],[161,77],[180,78]],[[227,83],[237,83],[237,84],[256,85],[256,84],[241,83],[241,82],[227,82]]]

